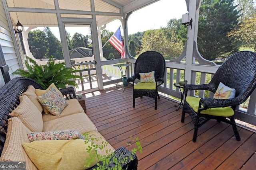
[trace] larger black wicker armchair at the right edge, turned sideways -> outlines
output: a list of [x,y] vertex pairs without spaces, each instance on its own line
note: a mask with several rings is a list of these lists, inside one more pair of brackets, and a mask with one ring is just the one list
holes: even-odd
[[[213,93],[216,92],[218,85],[222,82],[230,88],[236,90],[235,97],[232,99],[214,99],[202,98],[198,104],[198,111],[194,111],[186,97],[188,90],[209,90]],[[223,121],[232,125],[236,140],[240,141],[240,135],[236,128],[234,116],[214,116],[202,114],[201,112],[217,107],[231,106],[233,110],[236,106],[242,104],[250,96],[256,87],[256,53],[251,51],[240,51],[231,55],[216,71],[209,84],[186,84],[184,85],[185,100],[182,111],[181,122],[184,122],[185,113],[188,113],[194,123],[193,142],[196,142],[198,127],[206,123],[210,119],[216,119],[218,122]],[[222,113],[221,113],[222,114]],[[228,119],[226,119],[228,118]]]

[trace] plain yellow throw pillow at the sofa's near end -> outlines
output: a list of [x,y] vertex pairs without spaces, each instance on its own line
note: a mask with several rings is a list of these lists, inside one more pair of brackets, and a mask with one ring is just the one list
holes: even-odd
[[[90,167],[99,162],[94,150],[90,153],[86,150],[91,143],[85,144],[84,141],[83,139],[34,141],[22,143],[22,147],[39,170],[84,170],[86,158],[90,158],[90,154],[95,155]],[[100,150],[98,154],[101,155]]]

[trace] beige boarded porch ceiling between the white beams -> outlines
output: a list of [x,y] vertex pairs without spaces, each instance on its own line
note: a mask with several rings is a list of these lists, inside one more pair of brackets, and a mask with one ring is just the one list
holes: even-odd
[[[120,18],[123,14],[147,6],[158,0],[94,0],[98,25]],[[61,17],[92,18],[91,0],[58,0]],[[13,23],[19,20],[24,26],[57,26],[54,0],[6,0]],[[45,13],[48,12],[48,13]],[[53,14],[50,14],[53,13]],[[111,14],[111,15],[110,15]],[[110,15],[110,16],[107,16]],[[114,16],[117,15],[117,16]]]

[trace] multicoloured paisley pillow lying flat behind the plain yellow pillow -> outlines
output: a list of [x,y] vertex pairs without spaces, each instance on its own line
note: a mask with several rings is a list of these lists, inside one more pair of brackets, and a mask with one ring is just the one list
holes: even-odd
[[84,139],[84,136],[76,130],[60,130],[50,132],[31,132],[28,133],[30,142],[44,140],[69,140],[69,139]]

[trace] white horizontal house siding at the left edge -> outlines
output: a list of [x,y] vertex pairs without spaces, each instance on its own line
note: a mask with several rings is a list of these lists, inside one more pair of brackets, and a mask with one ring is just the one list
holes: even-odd
[[6,18],[3,2],[0,1],[0,44],[4,53],[4,59],[9,66],[10,78],[14,78],[12,72],[20,68],[10,28]]

